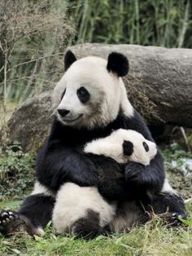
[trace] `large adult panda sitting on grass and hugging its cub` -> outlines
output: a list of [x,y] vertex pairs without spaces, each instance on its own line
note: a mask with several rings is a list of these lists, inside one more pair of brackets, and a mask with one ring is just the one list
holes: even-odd
[[[76,60],[76,56],[68,51],[64,62],[66,73],[53,94],[55,120],[50,136],[37,157],[35,189],[18,212],[1,212],[0,231],[3,234],[20,229],[32,235],[41,234],[51,219],[55,194],[63,183],[99,188],[97,167],[83,152],[86,143],[104,138],[111,131],[120,128],[136,130],[153,141],[146,123],[127,99],[121,79],[129,70],[129,63],[124,55],[112,52],[107,61],[95,56]],[[110,159],[105,163],[101,162],[101,165],[106,168],[110,165],[110,169],[113,168],[114,171],[120,168]],[[172,208],[174,213],[171,214],[185,216],[180,196],[172,195],[169,187],[163,195],[160,193],[164,185],[164,163],[159,150],[149,166],[128,163],[124,166],[124,175],[126,186],[122,188],[129,190],[129,196],[123,198],[119,193],[117,197],[114,195],[119,205],[116,212],[117,227],[122,215],[130,212],[130,204],[128,209],[126,201],[150,201],[157,214]],[[120,182],[122,183],[122,179]],[[103,188],[103,192],[99,191],[106,198],[109,192],[111,197],[111,188],[108,186]],[[97,218],[98,214],[92,211],[83,220],[83,234],[86,233],[83,230],[86,222],[91,223],[91,219]]]

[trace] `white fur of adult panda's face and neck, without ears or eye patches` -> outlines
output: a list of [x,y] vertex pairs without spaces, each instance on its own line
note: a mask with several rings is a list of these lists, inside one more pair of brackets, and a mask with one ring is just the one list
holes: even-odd
[[[76,95],[76,90],[81,86],[90,93],[87,104],[82,104]],[[65,89],[66,94],[60,100]],[[120,107],[128,117],[133,116],[133,107],[127,98],[122,79],[107,71],[107,60],[95,56],[76,60],[68,68],[55,86],[53,107],[55,111],[63,108],[70,110],[68,119],[58,115],[59,121],[79,128],[93,129],[97,126],[106,126],[116,119]],[[75,120],[77,117],[80,118]]]

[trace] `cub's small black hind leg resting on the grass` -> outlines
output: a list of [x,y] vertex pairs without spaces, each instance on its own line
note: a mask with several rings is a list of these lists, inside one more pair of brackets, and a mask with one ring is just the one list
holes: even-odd
[[99,224],[99,214],[94,210],[87,210],[85,218],[79,218],[72,226],[72,235],[86,240],[93,239],[103,234],[103,228]]

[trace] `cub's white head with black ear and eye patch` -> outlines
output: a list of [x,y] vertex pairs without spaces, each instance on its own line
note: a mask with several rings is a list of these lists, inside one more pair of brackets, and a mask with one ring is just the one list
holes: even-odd
[[135,130],[129,130],[122,146],[124,161],[135,161],[144,166],[148,166],[157,153],[156,144]]

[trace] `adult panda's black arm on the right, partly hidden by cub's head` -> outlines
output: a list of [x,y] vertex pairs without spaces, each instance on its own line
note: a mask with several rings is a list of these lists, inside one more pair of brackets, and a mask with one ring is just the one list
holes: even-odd
[[[121,127],[124,129],[136,130],[146,139],[154,141],[151,132],[146,126],[146,122],[141,115],[134,110],[133,117],[122,117]],[[149,166],[142,166],[135,162],[130,162],[125,166],[125,179],[128,187],[142,188],[150,192],[159,192],[164,184],[164,160],[159,149]]]

